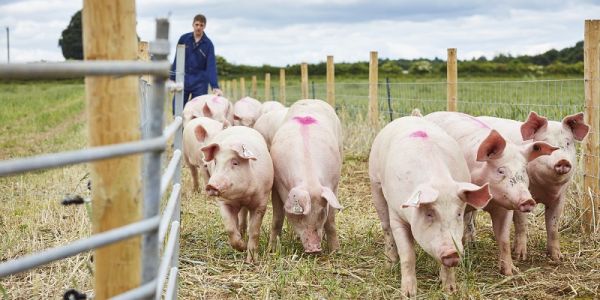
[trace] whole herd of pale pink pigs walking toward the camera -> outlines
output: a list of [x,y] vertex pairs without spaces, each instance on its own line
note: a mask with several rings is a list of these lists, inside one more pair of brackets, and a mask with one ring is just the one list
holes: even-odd
[[[260,226],[271,195],[274,249],[288,218],[306,253],[340,247],[335,213],[342,166],[342,126],[335,110],[316,99],[289,108],[274,101],[203,95],[183,110],[184,159],[194,190],[218,197],[231,246],[256,262]],[[445,290],[463,243],[474,239],[474,214],[491,216],[500,272],[511,275],[514,252],[527,255],[527,213],[543,203],[547,251],[560,260],[558,222],[576,165],[575,142],[589,127],[583,113],[561,122],[531,112],[525,122],[434,112],[398,118],[375,137],[369,155],[372,203],[384,232],[385,255],[400,261],[401,288],[416,294],[414,240],[441,263]],[[343,199],[342,199],[343,200]],[[369,201],[365,199],[365,201]],[[247,231],[247,232],[246,232]],[[248,236],[248,241],[244,236]]]

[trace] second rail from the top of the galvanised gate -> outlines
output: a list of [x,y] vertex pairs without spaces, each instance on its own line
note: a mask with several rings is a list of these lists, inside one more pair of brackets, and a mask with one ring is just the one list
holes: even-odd
[[32,170],[50,169],[65,165],[130,155],[145,151],[160,151],[165,148],[166,138],[98,146],[84,150],[43,154],[0,162],[0,176],[13,175]]

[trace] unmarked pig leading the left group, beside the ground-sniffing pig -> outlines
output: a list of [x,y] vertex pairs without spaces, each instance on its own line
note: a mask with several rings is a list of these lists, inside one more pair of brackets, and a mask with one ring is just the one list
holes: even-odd
[[[214,162],[206,192],[219,197],[229,243],[238,251],[247,250],[246,262],[254,263],[258,259],[260,226],[273,188],[273,161],[267,144],[258,131],[232,126],[215,135],[201,150],[205,162]],[[247,245],[242,239],[245,228],[238,222],[246,211]]]

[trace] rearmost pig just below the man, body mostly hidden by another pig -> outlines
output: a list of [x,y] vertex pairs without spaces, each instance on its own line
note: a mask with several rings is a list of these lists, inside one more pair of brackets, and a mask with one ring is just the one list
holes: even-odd
[[233,105],[221,96],[201,95],[185,104],[182,115],[183,127],[197,117],[208,117],[229,126],[233,122]]

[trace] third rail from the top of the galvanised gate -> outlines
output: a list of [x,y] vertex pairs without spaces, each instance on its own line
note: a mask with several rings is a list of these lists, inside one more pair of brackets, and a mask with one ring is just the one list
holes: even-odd
[[113,244],[145,232],[156,230],[159,224],[160,217],[157,216],[98,233],[89,238],[77,240],[66,246],[49,249],[19,259],[11,260],[9,262],[0,264],[0,277],[27,271],[55,260],[70,257],[81,252],[89,251],[108,244]]

